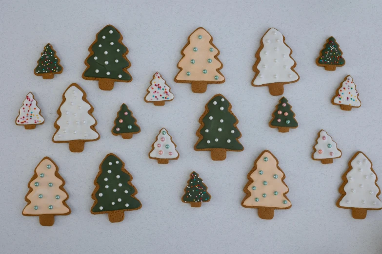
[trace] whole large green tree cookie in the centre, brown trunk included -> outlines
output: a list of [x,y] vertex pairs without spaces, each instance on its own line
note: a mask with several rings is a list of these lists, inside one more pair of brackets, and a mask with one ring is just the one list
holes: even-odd
[[241,133],[236,125],[239,120],[231,111],[232,105],[221,94],[216,94],[205,105],[205,111],[199,118],[195,144],[196,151],[211,151],[211,159],[223,161],[227,151],[240,152],[244,147],[240,144]]

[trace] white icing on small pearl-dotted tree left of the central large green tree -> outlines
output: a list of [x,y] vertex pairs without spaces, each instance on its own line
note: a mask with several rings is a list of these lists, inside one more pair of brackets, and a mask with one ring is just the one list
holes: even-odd
[[[164,135],[162,134],[163,131],[166,132]],[[164,141],[161,141],[161,138],[164,138]],[[169,145],[170,147],[166,148],[166,145]],[[162,151],[162,154],[160,154],[160,151]],[[170,155],[170,153],[172,154]],[[157,136],[157,141],[154,143],[154,149],[150,152],[150,157],[159,159],[174,159],[178,157],[175,145],[172,143],[171,137],[168,135],[165,128],[162,128],[161,133]]]

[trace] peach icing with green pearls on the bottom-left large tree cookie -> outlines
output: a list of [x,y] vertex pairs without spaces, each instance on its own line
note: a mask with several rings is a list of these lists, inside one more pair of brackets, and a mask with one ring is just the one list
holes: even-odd
[[30,182],[32,191],[26,196],[30,203],[25,206],[24,215],[66,214],[69,208],[63,204],[68,197],[62,187],[62,181],[56,177],[58,169],[55,164],[44,159],[35,170],[37,178]]

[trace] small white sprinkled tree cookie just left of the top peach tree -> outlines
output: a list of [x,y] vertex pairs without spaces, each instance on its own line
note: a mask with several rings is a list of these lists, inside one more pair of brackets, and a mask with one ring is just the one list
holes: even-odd
[[164,106],[166,101],[172,101],[174,94],[170,92],[171,88],[166,84],[161,74],[156,72],[151,80],[151,85],[147,89],[145,102],[153,102],[155,106]]

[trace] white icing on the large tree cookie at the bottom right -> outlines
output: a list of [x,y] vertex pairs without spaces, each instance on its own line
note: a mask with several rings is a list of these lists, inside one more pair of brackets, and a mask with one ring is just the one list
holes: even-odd
[[377,198],[380,191],[376,185],[377,176],[371,170],[371,162],[360,152],[350,165],[352,169],[347,173],[347,183],[343,187],[346,195],[340,201],[340,206],[382,208],[382,202]]

